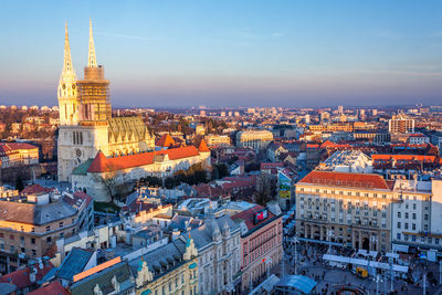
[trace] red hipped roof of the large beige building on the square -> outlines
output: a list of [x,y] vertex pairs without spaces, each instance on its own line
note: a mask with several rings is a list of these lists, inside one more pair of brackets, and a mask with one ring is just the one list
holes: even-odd
[[312,171],[297,183],[390,190],[381,176],[367,173]]

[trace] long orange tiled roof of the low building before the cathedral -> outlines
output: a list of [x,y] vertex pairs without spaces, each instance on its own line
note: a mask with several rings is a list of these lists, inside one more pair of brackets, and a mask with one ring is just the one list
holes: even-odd
[[87,172],[109,172],[119,169],[150,165],[154,164],[154,156],[165,155],[167,155],[170,160],[177,160],[199,156],[199,152],[194,146],[126,155],[115,158],[106,158],[102,151],[98,151],[98,154],[95,156],[95,159],[92,161],[90,168],[87,169]]

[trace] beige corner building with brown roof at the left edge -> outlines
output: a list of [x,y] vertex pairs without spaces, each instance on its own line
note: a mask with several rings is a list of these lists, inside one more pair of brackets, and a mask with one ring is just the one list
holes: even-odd
[[93,199],[83,193],[29,194],[0,201],[0,272],[42,257],[60,238],[93,228]]

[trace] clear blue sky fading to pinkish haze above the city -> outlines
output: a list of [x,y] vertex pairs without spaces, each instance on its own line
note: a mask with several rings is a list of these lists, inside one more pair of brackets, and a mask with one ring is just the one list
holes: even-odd
[[2,1],[0,104],[56,105],[88,20],[114,106],[442,104],[442,1]]

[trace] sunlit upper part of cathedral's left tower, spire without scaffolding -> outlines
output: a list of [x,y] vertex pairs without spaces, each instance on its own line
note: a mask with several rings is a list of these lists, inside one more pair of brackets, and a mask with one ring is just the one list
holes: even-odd
[[78,124],[78,102],[76,88],[76,75],[72,65],[71,48],[67,35],[67,23],[64,35],[64,62],[60,77],[59,89],[60,125]]

